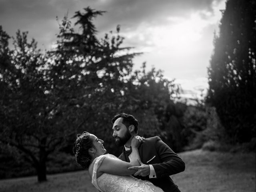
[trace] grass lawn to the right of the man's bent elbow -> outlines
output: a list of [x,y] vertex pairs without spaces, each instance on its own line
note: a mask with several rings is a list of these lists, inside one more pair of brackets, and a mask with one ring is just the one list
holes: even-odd
[[172,176],[182,192],[255,192],[255,153],[194,150],[179,156],[186,170]]

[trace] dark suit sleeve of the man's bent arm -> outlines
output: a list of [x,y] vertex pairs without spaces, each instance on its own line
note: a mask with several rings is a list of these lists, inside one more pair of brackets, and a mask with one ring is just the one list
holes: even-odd
[[185,163],[182,159],[158,136],[156,136],[155,147],[161,159],[161,163],[152,164],[156,178],[170,176],[185,170]]

